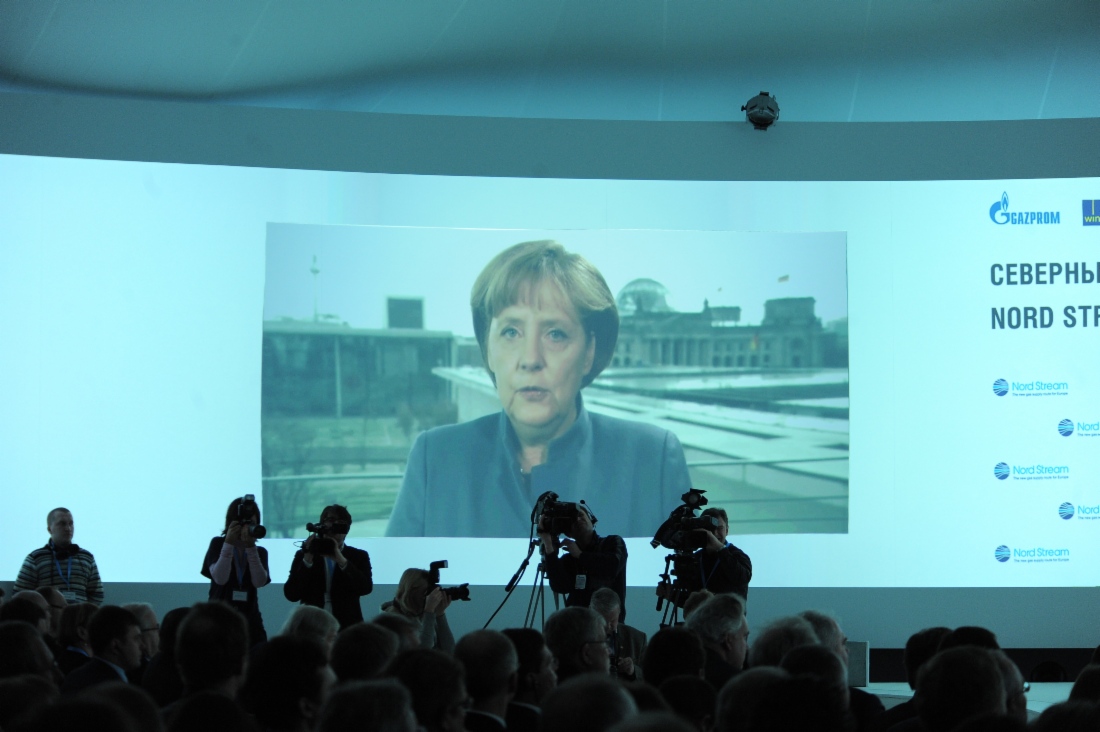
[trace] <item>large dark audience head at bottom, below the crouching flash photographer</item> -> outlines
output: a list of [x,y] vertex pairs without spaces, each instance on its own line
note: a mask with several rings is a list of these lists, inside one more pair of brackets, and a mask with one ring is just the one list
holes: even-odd
[[470,696],[462,664],[433,648],[397,656],[389,675],[413,695],[413,712],[426,732],[463,732]]

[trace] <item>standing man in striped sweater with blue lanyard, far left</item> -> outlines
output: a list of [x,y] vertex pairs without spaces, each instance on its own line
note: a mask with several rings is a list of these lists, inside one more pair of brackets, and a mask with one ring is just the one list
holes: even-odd
[[102,604],[103,582],[99,579],[96,558],[87,549],[73,544],[73,514],[68,509],[54,509],[46,516],[50,543],[26,555],[15,580],[15,592],[55,587],[65,602]]

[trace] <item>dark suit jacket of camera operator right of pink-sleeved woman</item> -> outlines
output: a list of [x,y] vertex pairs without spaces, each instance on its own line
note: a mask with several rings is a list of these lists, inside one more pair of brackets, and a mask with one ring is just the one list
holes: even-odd
[[[332,615],[346,627],[363,620],[359,599],[374,589],[371,578],[371,556],[362,549],[344,545],[342,549],[348,566],[332,568]],[[290,602],[301,602],[317,608],[324,607],[324,557],[314,555],[314,566],[301,560],[298,550],[290,562],[290,577],[283,586],[283,594]]]

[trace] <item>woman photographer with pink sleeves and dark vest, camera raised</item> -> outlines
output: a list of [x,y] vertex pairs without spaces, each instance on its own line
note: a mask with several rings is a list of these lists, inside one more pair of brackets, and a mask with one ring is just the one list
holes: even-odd
[[264,619],[260,614],[256,588],[271,582],[267,572],[267,549],[256,546],[260,506],[251,495],[234,499],[226,511],[226,528],[210,539],[202,576],[210,579],[210,600],[221,600],[237,608],[249,621],[249,643],[254,646],[267,640]]

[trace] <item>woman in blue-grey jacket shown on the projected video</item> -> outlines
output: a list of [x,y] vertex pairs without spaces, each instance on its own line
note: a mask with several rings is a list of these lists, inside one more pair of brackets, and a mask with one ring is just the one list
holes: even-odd
[[539,495],[606,506],[608,531],[651,536],[691,487],[672,433],[590,413],[618,310],[603,275],[553,241],[497,254],[470,296],[502,411],[422,433],[388,536],[529,536]]

